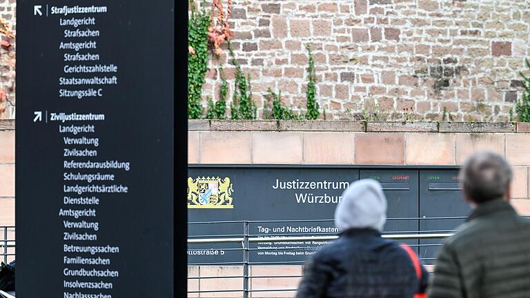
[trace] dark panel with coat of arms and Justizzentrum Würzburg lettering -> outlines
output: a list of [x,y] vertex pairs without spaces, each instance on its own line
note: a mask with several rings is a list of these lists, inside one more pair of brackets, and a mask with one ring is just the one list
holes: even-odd
[[[240,221],[232,224],[189,225],[188,233],[191,238],[198,235],[242,235],[242,221],[257,221],[248,224],[251,237],[336,234],[337,229],[333,224],[335,207],[344,189],[359,177],[359,170],[355,168],[190,168],[188,173],[188,181],[193,179],[190,181],[191,188],[197,188],[197,195],[190,197],[191,200],[196,200],[192,201],[192,205],[201,205],[201,198],[208,197],[213,192],[218,193],[217,199],[213,201],[219,203],[222,193],[228,193],[225,191],[227,177],[232,186],[232,206],[228,206],[227,200],[216,208],[190,206],[188,221]],[[302,262],[315,248],[326,243],[327,241],[254,243],[250,246],[249,260],[251,263]],[[224,251],[224,255],[220,253],[220,249],[237,247],[242,248],[240,244],[191,244],[188,246],[188,254],[206,253],[206,248],[215,248],[219,253],[209,255],[208,261],[242,262],[241,250]],[[202,264],[204,261],[204,255],[188,255],[190,264]]]

